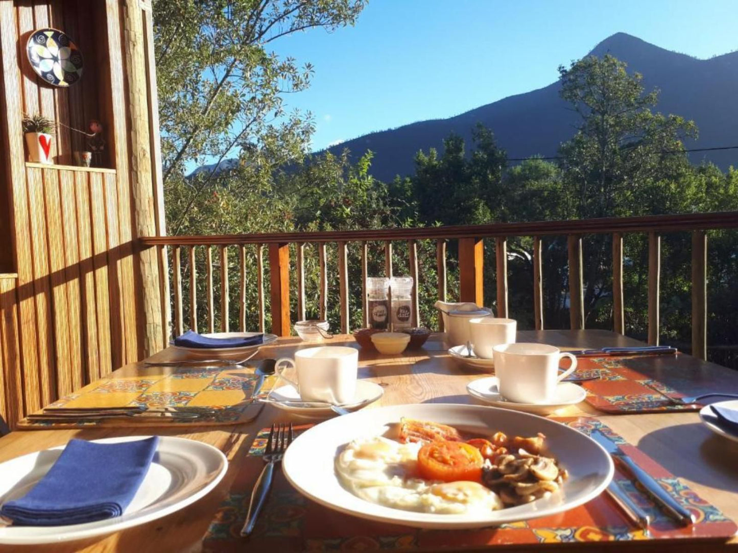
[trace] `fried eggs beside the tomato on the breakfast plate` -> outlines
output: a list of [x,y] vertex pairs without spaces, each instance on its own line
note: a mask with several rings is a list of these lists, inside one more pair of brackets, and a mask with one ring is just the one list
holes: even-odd
[[415,476],[421,446],[381,436],[356,439],[337,457],[336,471],[351,493],[384,507],[447,514],[503,508],[497,494],[477,482],[430,481]]

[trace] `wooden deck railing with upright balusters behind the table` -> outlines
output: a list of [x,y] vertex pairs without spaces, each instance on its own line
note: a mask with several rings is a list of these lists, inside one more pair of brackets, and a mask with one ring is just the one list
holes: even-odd
[[[229,330],[230,305],[228,302],[228,256],[230,248],[237,248],[240,267],[239,327],[246,327],[246,246],[256,245],[258,282],[259,329],[264,330],[264,282],[263,246],[269,252],[269,282],[271,284],[272,332],[278,335],[291,333],[290,321],[290,256],[289,245],[296,245],[297,316],[302,319],[306,311],[305,245],[317,245],[319,282],[319,315],[325,318],[328,309],[328,271],[326,268],[326,243],[336,243],[338,251],[338,289],[340,330],[350,330],[348,302],[348,243],[361,243],[362,279],[367,276],[369,242],[384,243],[384,273],[393,274],[393,243],[404,241],[408,248],[410,276],[418,282],[417,240],[437,240],[436,269],[438,274],[438,298],[446,299],[446,242],[458,240],[459,299],[483,303],[483,240],[495,240],[495,271],[497,273],[497,315],[508,315],[507,240],[508,237],[533,237],[534,321],[537,329],[544,327],[542,282],[542,237],[565,235],[568,243],[568,272],[570,298],[570,326],[584,328],[584,283],[582,275],[582,237],[587,234],[611,234],[613,237],[613,330],[624,333],[623,297],[623,237],[629,233],[647,233],[649,240],[648,271],[648,339],[658,344],[659,337],[659,282],[661,278],[661,233],[692,232],[692,353],[706,358],[706,283],[707,283],[707,234],[711,229],[738,228],[738,212],[695,213],[688,215],[654,215],[649,217],[601,218],[537,223],[497,223],[477,226],[439,226],[418,229],[378,229],[339,232],[288,232],[280,234],[232,234],[219,236],[168,236],[140,239],[143,246],[171,246],[173,248],[174,333],[184,330],[182,313],[182,248],[187,248],[190,266],[190,326],[197,330],[207,328],[213,332],[215,311],[213,306],[213,247],[219,248],[221,262],[221,327]],[[199,324],[196,299],[197,247],[205,248],[207,271],[207,321]],[[362,285],[363,287],[363,285]],[[362,288],[363,291],[363,288]],[[418,313],[418,287],[413,288],[415,312],[413,321],[420,321]],[[362,322],[367,321],[365,293],[362,294]]]

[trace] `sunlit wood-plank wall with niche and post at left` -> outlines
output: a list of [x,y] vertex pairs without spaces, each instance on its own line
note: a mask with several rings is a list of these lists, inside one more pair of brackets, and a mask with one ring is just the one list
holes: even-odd
[[[66,32],[85,59],[69,88],[25,56],[33,29]],[[0,0],[0,414],[12,426],[165,343],[164,233],[151,6],[139,0]],[[22,114],[105,125],[105,167],[72,167],[85,138],[58,127],[55,165],[31,164]],[[158,307],[158,309],[157,309]]]

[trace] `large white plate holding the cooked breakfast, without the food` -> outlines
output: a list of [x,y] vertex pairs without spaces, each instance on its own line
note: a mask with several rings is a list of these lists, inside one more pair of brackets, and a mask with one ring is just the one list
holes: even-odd
[[[551,454],[569,471],[563,493],[482,514],[441,515],[382,507],[342,487],[334,464],[343,446],[358,437],[389,434],[401,417],[444,422],[482,436],[496,431],[508,436],[534,436],[542,432],[548,437]],[[508,409],[442,403],[380,407],[326,420],[294,440],[285,453],[282,467],[300,493],[331,509],[372,521],[444,529],[482,528],[554,515],[595,498],[613,478],[613,461],[607,452],[573,428]]]

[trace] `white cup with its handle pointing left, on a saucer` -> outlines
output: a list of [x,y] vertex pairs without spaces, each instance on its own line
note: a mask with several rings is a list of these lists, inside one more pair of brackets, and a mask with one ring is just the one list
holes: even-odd
[[[284,375],[284,365],[294,366],[297,381]],[[275,372],[297,389],[300,399],[338,405],[354,399],[358,366],[359,351],[353,347],[311,347],[298,349],[294,359],[277,359]]]

